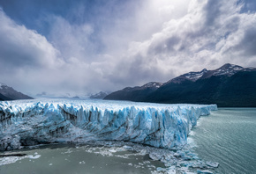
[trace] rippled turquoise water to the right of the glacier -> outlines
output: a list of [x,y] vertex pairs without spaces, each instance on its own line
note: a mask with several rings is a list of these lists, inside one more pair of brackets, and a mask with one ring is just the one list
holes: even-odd
[[216,172],[256,173],[256,108],[219,108],[193,132],[200,158],[220,163]]

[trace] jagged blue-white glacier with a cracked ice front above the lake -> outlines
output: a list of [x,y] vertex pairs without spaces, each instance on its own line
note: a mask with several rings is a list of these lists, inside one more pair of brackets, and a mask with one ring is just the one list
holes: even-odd
[[2,102],[0,149],[97,140],[180,148],[199,117],[212,110],[217,106],[79,100]]

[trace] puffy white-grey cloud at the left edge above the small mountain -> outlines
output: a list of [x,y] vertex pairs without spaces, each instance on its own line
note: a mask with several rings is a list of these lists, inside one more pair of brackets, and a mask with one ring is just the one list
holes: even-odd
[[41,89],[41,82],[50,83],[47,77],[42,77],[49,76],[45,72],[63,66],[59,51],[44,36],[24,25],[17,25],[2,9],[0,23],[1,81],[19,86],[26,92],[33,89],[33,84]]

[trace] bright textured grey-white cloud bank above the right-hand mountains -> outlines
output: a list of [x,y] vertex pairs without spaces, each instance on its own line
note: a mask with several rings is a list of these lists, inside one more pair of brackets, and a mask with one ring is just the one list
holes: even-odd
[[255,13],[241,13],[243,7],[235,0],[191,1],[182,18],[165,22],[149,40],[131,43],[128,67],[139,69],[131,68],[126,76],[136,73],[144,75],[139,80],[151,77],[166,81],[192,70],[215,69],[226,62],[255,67],[256,18]]

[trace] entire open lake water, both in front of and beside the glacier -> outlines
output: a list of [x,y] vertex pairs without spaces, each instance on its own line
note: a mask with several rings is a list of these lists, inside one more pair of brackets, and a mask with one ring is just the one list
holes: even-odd
[[[201,160],[220,163],[212,171],[256,173],[256,108],[219,108],[200,118],[190,139],[195,144],[192,151]],[[164,168],[163,163],[144,154],[143,146],[138,152],[124,144],[112,147],[115,142],[106,143],[110,146],[54,144],[15,150],[28,156],[0,157],[0,163],[6,163],[0,166],[0,173],[128,174],[152,173]]]

